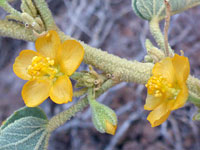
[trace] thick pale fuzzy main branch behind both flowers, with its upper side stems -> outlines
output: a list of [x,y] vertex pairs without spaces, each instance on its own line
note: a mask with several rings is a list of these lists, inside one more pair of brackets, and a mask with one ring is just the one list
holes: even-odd
[[[34,0],[34,2],[47,30],[57,30],[62,41],[72,39],[56,27],[51,11],[49,10],[45,0]],[[152,20],[150,22],[150,28],[157,43],[160,44],[159,46],[164,50],[164,37],[160,31],[158,21]],[[27,29],[21,24],[12,21],[0,21],[0,35],[32,42],[36,40],[31,29]],[[91,47],[84,42],[81,43],[85,49],[84,62],[93,65],[104,73],[112,74],[118,81],[146,84],[151,76],[153,68],[153,64],[151,63],[128,61],[118,56],[108,54],[100,49]],[[200,85],[200,81],[197,78],[190,76],[187,84],[190,92],[200,97],[200,88],[198,86]]]

